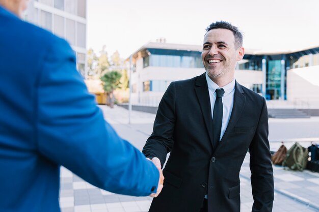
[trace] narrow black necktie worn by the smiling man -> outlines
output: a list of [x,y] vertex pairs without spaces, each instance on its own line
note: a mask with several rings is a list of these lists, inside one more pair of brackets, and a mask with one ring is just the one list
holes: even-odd
[[222,97],[225,93],[224,89],[216,89],[216,101],[214,106],[214,112],[212,116],[212,136],[214,142],[214,148],[216,149],[222,130],[222,120],[223,120],[223,102]]

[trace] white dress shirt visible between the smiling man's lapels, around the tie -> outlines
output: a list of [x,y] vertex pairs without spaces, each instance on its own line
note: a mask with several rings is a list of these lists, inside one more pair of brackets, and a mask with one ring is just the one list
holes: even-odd
[[210,107],[211,107],[211,118],[214,116],[214,105],[216,101],[216,89],[223,88],[225,93],[222,97],[223,102],[223,121],[222,121],[222,129],[221,129],[221,135],[219,137],[219,140],[222,140],[222,137],[225,133],[225,130],[228,126],[230,114],[232,111],[232,107],[234,105],[234,94],[235,94],[235,79],[233,79],[230,83],[223,87],[219,87],[214,81],[212,81],[207,73],[206,73],[206,81],[208,85],[208,91],[209,91],[209,99],[210,99]]

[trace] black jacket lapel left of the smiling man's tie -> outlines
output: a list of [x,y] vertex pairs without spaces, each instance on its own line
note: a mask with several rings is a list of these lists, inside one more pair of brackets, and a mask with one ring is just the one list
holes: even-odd
[[195,92],[196,92],[197,99],[203,114],[206,129],[209,134],[210,142],[212,144],[211,107],[210,107],[210,98],[209,98],[209,92],[208,92],[207,81],[205,78],[205,73],[200,75],[197,78],[197,81],[195,84]]

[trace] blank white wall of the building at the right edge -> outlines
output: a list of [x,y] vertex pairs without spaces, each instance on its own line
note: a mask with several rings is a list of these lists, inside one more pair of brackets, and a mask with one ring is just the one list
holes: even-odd
[[287,100],[299,108],[319,107],[319,66],[287,71]]

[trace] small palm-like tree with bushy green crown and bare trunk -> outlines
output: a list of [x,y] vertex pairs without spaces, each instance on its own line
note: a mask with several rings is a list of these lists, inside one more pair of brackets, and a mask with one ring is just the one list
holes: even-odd
[[114,90],[120,87],[120,78],[122,74],[118,71],[110,71],[105,73],[100,79],[103,83],[104,92],[109,95],[110,107],[114,107],[115,97]]

